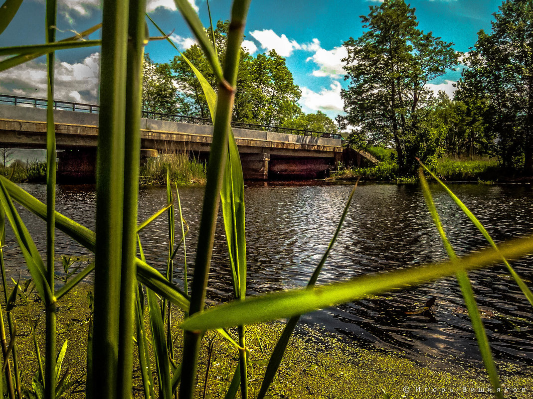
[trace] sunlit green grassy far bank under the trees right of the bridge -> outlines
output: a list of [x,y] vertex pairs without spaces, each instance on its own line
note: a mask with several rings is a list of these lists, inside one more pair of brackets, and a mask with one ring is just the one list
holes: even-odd
[[[479,183],[532,183],[533,177],[510,173],[498,165],[495,158],[461,159],[440,158],[433,172],[443,181],[463,181]],[[390,160],[379,162],[366,168],[346,168],[332,173],[330,181],[380,181],[391,183],[410,183],[417,176],[399,176],[398,165]]]

